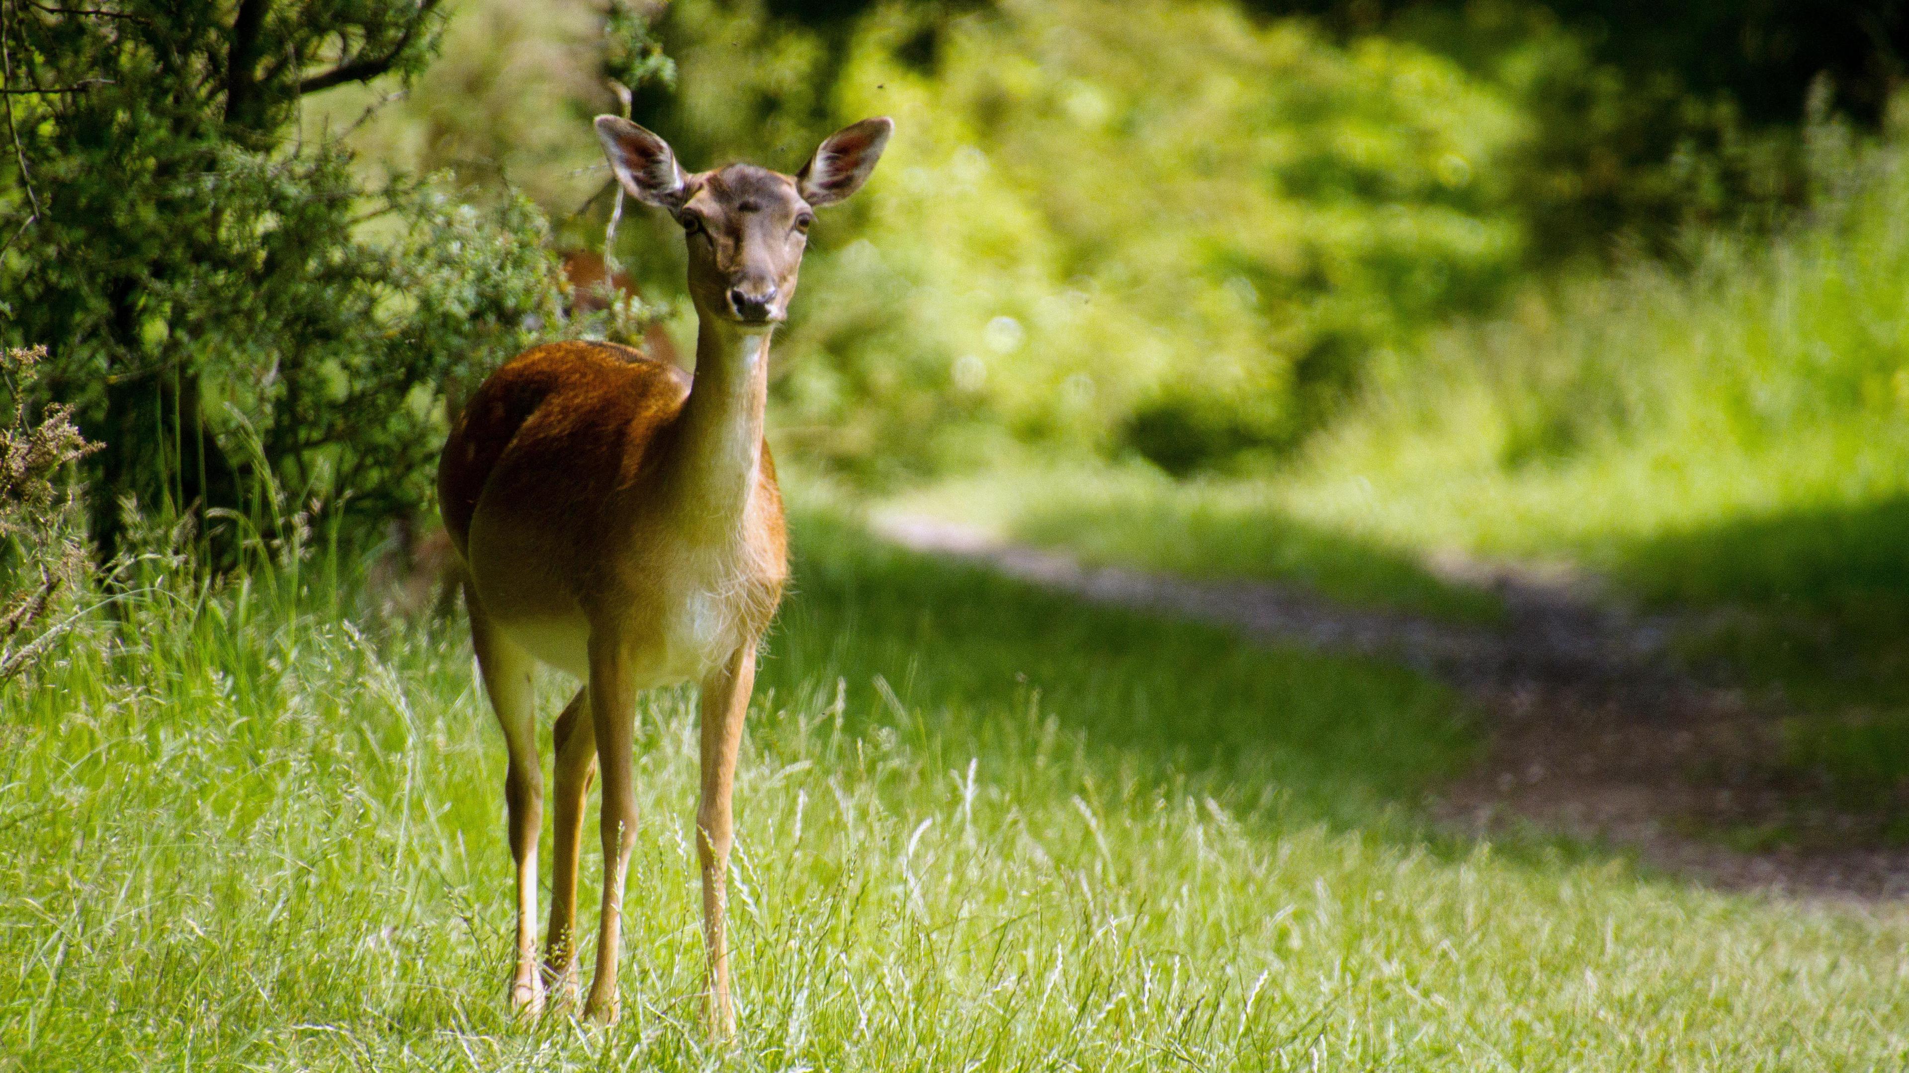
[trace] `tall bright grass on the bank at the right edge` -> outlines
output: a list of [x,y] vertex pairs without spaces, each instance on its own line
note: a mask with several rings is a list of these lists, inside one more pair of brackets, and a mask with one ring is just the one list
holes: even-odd
[[[1321,449],[1373,464],[1462,443],[1443,464],[1502,472],[1630,451],[1770,454],[1827,435],[1894,451],[1909,409],[1905,105],[1875,143],[1812,126],[1814,197],[1775,235],[1705,235],[1682,269],[1638,260],[1437,332],[1388,363]],[[1838,483],[1869,479],[1896,477]]]

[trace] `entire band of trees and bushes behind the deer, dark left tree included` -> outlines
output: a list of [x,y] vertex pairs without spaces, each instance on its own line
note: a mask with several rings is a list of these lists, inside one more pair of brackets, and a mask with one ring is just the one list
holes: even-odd
[[[691,166],[792,170],[844,120],[901,120],[871,193],[817,231],[783,334],[794,454],[863,479],[1016,454],[1237,468],[1533,269],[1781,218],[1808,193],[1806,95],[1819,120],[1880,115],[1898,23],[1575,0],[8,0],[0,336],[50,346],[42,384],[107,443],[107,540],[124,493],[410,510],[445,386],[556,330],[540,246],[601,241],[588,118],[619,78]],[[626,216],[620,252],[645,298],[680,298],[668,221]]]

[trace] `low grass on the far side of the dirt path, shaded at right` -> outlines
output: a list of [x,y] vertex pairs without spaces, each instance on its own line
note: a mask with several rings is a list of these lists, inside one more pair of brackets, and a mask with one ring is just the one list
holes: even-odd
[[1831,431],[1846,439],[1510,473],[1008,473],[892,506],[1094,563],[1298,582],[1457,622],[1489,622],[1499,596],[1432,569],[1453,552],[1588,569],[1617,603],[1684,613],[1674,643],[1701,674],[1785,701],[1783,748],[1762,764],[1798,804],[1896,815],[1909,804],[1909,456],[1882,464],[1894,430]]

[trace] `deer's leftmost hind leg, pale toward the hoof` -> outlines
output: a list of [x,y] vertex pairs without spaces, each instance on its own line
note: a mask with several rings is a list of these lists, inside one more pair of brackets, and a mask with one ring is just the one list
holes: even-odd
[[470,586],[464,588],[464,605],[472,617],[472,647],[485,693],[510,748],[504,802],[510,806],[510,855],[517,863],[517,968],[510,1004],[535,1014],[544,1008],[544,983],[536,976],[536,834],[544,827],[544,768],[536,756],[533,685],[536,661],[491,622]]

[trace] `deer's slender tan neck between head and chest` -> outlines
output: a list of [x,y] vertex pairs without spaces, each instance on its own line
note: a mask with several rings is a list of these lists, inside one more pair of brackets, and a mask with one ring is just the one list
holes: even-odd
[[674,487],[682,527],[731,538],[762,472],[769,399],[769,330],[714,317],[697,326],[697,370],[683,403]]

